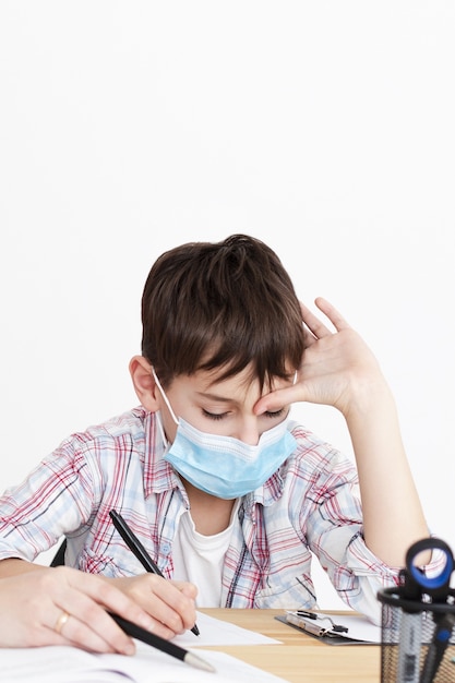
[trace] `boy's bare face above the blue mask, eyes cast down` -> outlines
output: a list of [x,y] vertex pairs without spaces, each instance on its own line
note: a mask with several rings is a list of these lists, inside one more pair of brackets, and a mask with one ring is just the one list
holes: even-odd
[[[250,369],[220,382],[214,382],[214,373],[200,371],[192,375],[179,375],[166,395],[177,418],[211,434],[234,436],[249,445],[256,445],[261,434],[282,422],[289,412],[283,406],[276,412],[255,415],[253,408],[262,395],[272,390],[284,388],[291,382],[277,378],[273,386],[260,392],[259,383],[251,383]],[[160,392],[156,394],[166,436],[173,442],[177,424]]]

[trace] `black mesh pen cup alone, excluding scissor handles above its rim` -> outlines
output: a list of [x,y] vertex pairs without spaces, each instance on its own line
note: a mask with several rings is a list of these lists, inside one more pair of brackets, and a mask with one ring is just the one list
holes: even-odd
[[455,590],[445,602],[407,600],[396,587],[378,599],[381,683],[455,683]]

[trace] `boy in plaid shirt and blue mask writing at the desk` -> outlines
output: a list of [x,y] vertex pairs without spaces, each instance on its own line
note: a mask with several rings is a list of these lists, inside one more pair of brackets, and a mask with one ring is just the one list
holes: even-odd
[[[316,305],[334,333],[251,237],[163,254],[130,363],[141,406],[72,435],[4,494],[0,575],[31,572],[65,536],[65,564],[115,584],[171,637],[194,623],[194,586],[197,607],[314,608],[314,553],[347,604],[376,619],[378,589],[428,528],[378,362]],[[358,474],[290,420],[298,400],[342,411]],[[144,575],[110,510],[171,580]]]

